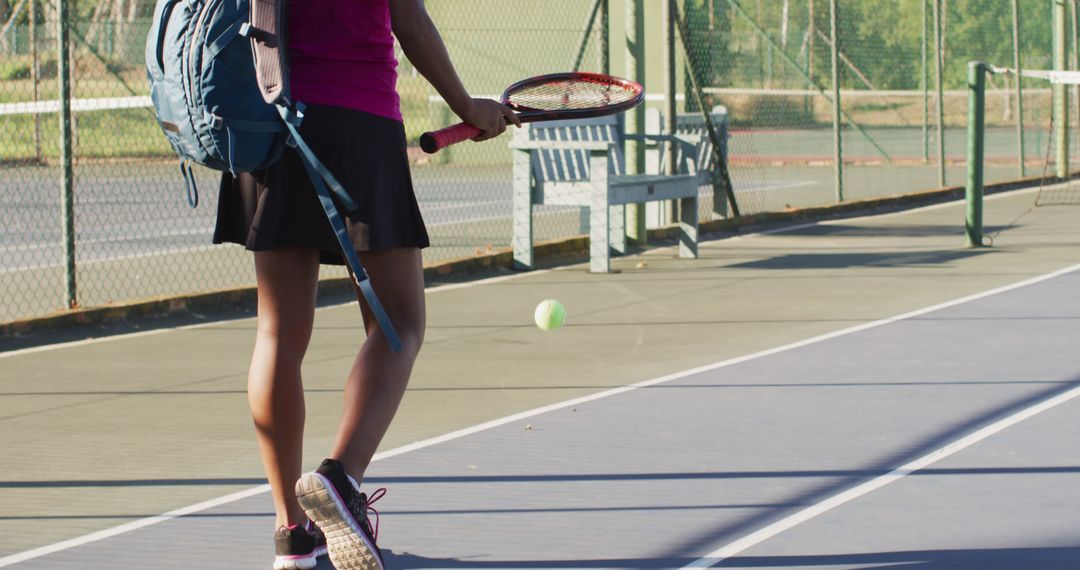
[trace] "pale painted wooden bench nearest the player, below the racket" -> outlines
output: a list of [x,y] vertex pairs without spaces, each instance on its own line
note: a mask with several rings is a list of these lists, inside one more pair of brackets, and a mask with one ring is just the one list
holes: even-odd
[[611,252],[626,250],[624,206],[678,200],[679,256],[698,257],[699,175],[627,175],[625,139],[619,117],[530,123],[514,130],[510,146],[515,267],[532,268],[532,207],[539,204],[588,208],[590,271],[607,273]]

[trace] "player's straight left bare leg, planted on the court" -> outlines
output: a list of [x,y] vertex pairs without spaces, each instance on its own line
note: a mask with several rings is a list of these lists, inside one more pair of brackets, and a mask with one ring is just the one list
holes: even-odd
[[296,501],[303,453],[300,363],[311,340],[319,252],[255,253],[258,334],[247,376],[247,403],[273,496],[275,526],[307,521]]

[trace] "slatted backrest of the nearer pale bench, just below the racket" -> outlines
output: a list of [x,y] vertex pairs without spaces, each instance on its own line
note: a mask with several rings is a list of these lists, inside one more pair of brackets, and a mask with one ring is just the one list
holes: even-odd
[[[608,174],[617,176],[626,169],[622,150],[622,120],[618,116],[527,123],[521,130],[515,130],[514,136],[526,140],[615,142],[608,152]],[[537,185],[585,180],[589,178],[589,152],[573,148],[534,150],[531,168]]]

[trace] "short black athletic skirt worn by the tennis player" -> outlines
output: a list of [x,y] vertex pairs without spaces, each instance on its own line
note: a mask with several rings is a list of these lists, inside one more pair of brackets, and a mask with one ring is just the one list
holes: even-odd
[[[310,105],[300,134],[360,206],[346,215],[338,205],[357,252],[430,245],[413,190],[401,122]],[[323,263],[345,263],[303,163],[288,147],[265,171],[221,176],[214,243],[237,243],[253,252],[319,249]]]

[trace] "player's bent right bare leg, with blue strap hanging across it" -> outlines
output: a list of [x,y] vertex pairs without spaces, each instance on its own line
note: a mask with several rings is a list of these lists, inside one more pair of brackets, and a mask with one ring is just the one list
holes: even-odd
[[426,326],[423,263],[416,248],[361,254],[372,285],[402,339],[391,352],[370,310],[360,297],[367,340],[360,349],[345,389],[345,412],[330,458],[345,464],[357,481],[387,433],[405,395]]

